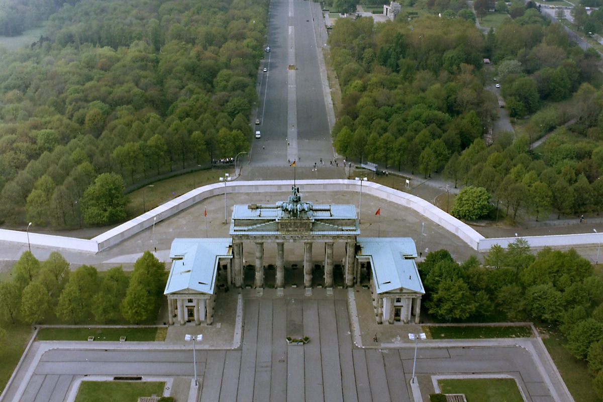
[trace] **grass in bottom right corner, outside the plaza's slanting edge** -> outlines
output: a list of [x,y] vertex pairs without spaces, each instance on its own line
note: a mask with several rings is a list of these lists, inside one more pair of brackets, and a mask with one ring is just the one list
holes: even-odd
[[593,391],[593,376],[590,375],[586,362],[576,359],[563,347],[566,343],[565,338],[561,334],[552,331],[542,341],[561,373],[563,382],[566,383],[573,399],[576,402],[601,402],[601,398]]

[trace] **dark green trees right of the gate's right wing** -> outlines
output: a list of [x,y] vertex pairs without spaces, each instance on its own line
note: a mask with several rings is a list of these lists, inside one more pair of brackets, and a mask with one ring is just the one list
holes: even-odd
[[603,281],[575,250],[532,254],[517,239],[496,245],[479,263],[456,263],[447,250],[418,264],[425,307],[446,321],[534,321],[558,326],[567,350],[588,362],[603,397]]

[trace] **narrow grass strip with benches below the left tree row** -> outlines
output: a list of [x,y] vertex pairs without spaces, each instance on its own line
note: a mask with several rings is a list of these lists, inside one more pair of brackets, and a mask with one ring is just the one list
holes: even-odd
[[121,336],[126,341],[153,342],[157,337],[157,328],[42,328],[38,331],[37,341],[87,341],[93,336],[95,341],[119,341]]

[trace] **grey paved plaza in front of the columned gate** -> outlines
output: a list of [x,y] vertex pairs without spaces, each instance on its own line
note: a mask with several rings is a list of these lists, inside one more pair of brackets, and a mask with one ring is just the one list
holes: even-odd
[[[170,327],[166,342],[34,343],[4,401],[69,401],[81,380],[115,375],[166,381],[177,401],[417,401],[408,333],[421,327],[373,325],[367,303],[362,288],[221,292],[215,325]],[[198,399],[184,333],[203,334]],[[287,336],[310,340],[288,344]],[[414,392],[428,401],[437,375],[494,375],[514,378],[528,401],[570,400],[543,354],[537,338],[423,341]]]

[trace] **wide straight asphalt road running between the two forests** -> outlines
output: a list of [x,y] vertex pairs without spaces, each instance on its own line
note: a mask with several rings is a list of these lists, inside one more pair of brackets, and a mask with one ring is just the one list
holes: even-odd
[[[312,169],[314,163],[331,166],[334,154],[326,103],[330,95],[319,59],[326,30],[317,18],[321,19],[320,6],[314,2],[271,2],[270,52],[264,53],[259,71],[256,115],[260,124],[254,127],[262,137],[253,140],[250,166],[288,168],[293,161],[298,169]],[[325,32],[317,34],[315,27]],[[265,172],[244,168],[242,178],[261,179]],[[343,177],[339,169],[333,174]]]

